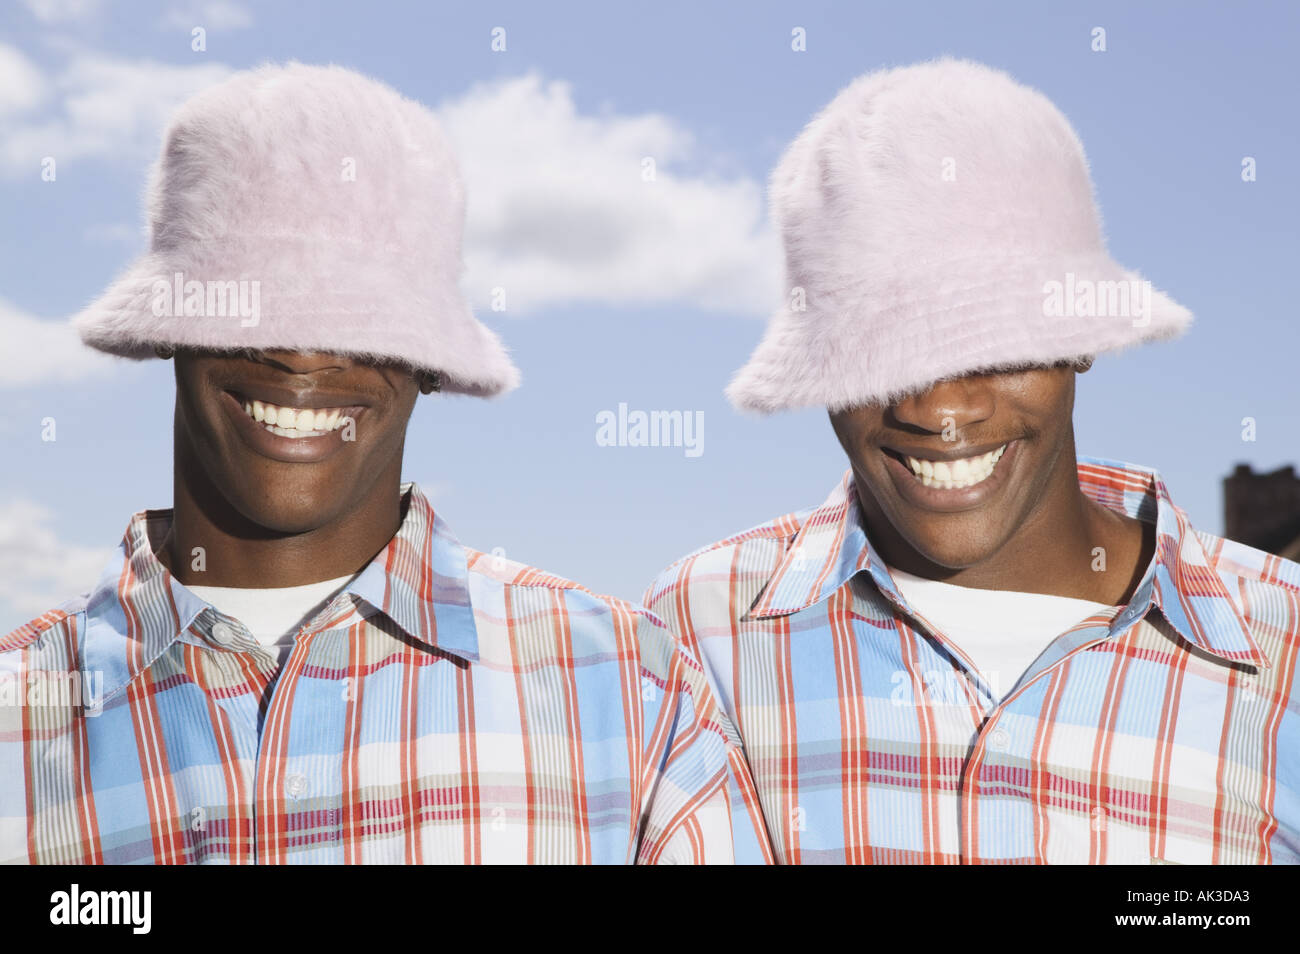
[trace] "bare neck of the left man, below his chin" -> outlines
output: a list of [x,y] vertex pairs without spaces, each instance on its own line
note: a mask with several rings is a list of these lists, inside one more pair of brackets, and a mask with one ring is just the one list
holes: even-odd
[[172,529],[157,556],[179,582],[204,586],[272,589],[352,576],[402,525],[399,474],[400,460],[337,519],[302,532],[280,532],[237,511],[199,468],[178,455]]

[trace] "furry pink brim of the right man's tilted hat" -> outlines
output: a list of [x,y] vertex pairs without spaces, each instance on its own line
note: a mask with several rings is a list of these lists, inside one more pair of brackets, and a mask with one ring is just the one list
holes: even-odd
[[[979,370],[1037,367],[1173,338],[1192,315],[1105,255],[966,261],[864,274],[853,287],[786,304],[727,389],[742,411],[884,404]],[[1049,282],[1058,282],[1052,313]],[[1079,315],[1086,287],[1093,311]],[[1074,295],[1066,294],[1074,290]],[[1128,307],[1112,307],[1128,289]],[[916,290],[924,290],[918,292]],[[1101,304],[1105,302],[1105,304]]]

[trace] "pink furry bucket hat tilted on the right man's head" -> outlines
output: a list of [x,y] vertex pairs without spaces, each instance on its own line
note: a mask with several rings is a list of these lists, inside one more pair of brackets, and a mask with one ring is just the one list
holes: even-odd
[[741,409],[888,403],[1192,318],[1106,252],[1061,112],[980,64],[858,78],[786,149],[771,203],[788,299],[727,389]]

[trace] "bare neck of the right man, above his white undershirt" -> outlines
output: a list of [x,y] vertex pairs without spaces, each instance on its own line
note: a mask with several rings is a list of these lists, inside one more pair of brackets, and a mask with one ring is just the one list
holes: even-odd
[[[871,508],[866,509],[870,513]],[[892,526],[879,535],[883,546],[876,548],[881,556],[915,576],[1110,606],[1131,598],[1150,563],[1156,539],[1153,528],[1115,513],[1083,493],[1072,442],[1060,455],[1039,506],[996,552],[976,564],[958,569],[940,567],[916,552]]]

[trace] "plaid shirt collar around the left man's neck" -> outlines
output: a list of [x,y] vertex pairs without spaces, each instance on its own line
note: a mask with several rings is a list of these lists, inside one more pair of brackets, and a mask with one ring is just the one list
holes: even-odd
[[[411,638],[463,659],[478,660],[469,603],[467,555],[415,483],[402,486],[407,512],[389,545],[346,587]],[[86,603],[83,663],[103,673],[107,699],[191,632],[211,637],[216,611],[178,582],[153,554],[172,525],[170,509],[131,517],[122,542]]]

